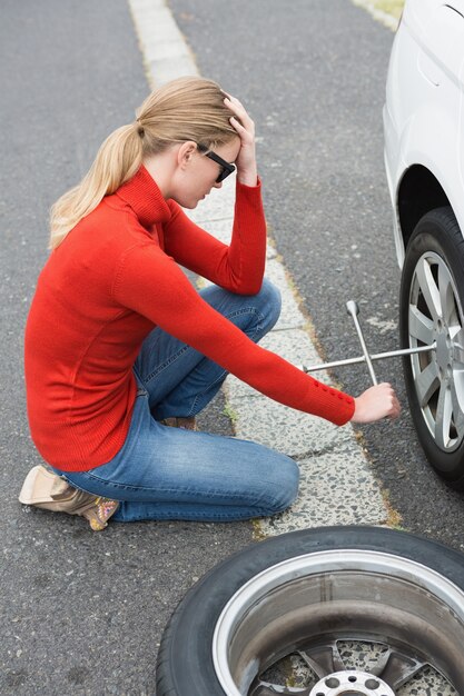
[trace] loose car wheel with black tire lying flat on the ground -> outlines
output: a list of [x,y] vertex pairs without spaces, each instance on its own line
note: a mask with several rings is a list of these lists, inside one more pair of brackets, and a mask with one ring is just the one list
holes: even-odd
[[[388,650],[368,673],[353,670],[338,634]],[[258,676],[295,652],[320,679],[318,695],[357,693],[357,680],[359,693],[391,696],[424,665],[464,693],[463,645],[462,554],[381,527],[305,529],[248,547],[188,591],[161,639],[156,693],[295,694]],[[330,690],[343,679],[346,692]]]

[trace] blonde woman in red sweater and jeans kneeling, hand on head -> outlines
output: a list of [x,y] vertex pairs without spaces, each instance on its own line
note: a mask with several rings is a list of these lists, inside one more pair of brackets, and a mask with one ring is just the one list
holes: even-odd
[[[225,246],[181,207],[235,168]],[[93,529],[111,516],[227,521],[283,510],[297,494],[292,459],[192,429],[229,371],[338,425],[398,414],[389,385],[354,399],[256,345],[280,302],[263,280],[254,123],[215,82],[182,78],[150,95],[53,206],[50,246],[26,330],[30,429],[49,466],[29,473],[22,503],[83,515]],[[214,286],[198,294],[178,265]]]

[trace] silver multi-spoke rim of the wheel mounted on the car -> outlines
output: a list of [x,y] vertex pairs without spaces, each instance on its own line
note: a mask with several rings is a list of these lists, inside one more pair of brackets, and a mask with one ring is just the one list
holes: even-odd
[[411,356],[422,416],[446,453],[464,438],[464,330],[456,286],[445,261],[428,251],[416,264],[409,292],[409,347],[436,344]]

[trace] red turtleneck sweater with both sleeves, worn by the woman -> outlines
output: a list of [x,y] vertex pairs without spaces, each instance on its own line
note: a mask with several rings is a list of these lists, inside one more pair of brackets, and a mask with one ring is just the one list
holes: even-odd
[[178,266],[253,295],[265,247],[259,185],[237,182],[230,246],[166,201],[144,167],[83,218],[40,274],[26,328],[28,416],[46,461],[80,471],[119,451],[137,390],[132,366],[155,326],[270,398],[345,424],[352,397],[255,345],[200,298]]

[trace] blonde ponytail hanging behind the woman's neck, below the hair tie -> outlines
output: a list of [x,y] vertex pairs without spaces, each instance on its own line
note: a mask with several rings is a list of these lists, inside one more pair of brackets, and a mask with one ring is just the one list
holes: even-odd
[[82,181],[67,191],[50,211],[49,248],[55,249],[67,233],[98,203],[137,173],[142,160],[144,129],[139,123],[122,126],[101,145]]

